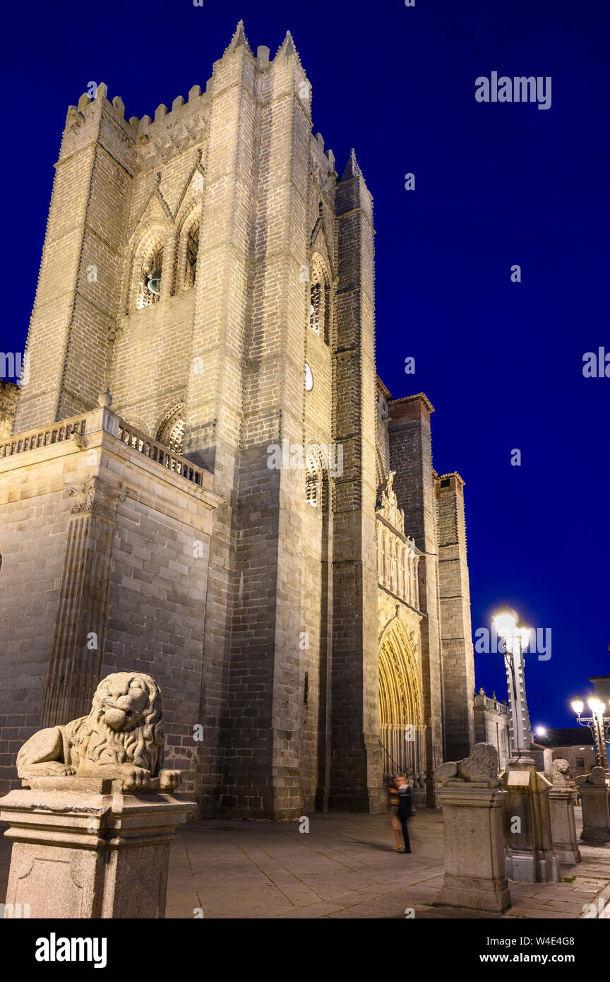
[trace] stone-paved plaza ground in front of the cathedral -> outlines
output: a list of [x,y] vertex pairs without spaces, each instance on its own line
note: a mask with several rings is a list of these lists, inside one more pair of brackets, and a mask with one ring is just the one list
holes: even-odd
[[[436,906],[441,813],[420,809],[410,829],[413,852],[401,855],[386,815],[315,814],[309,833],[296,822],[191,822],[172,846],[166,916],[192,918],[200,908],[205,918],[404,918],[412,907],[416,919],[499,918]],[[4,898],[11,844],[0,844]],[[598,895],[607,899],[610,844],[581,851],[582,863],[561,867],[561,883],[511,881],[513,906],[500,919],[576,918]]]

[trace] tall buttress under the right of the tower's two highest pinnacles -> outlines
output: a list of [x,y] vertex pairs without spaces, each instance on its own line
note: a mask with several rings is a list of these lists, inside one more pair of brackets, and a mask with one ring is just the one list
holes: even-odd
[[[240,595],[231,637],[227,806],[237,814],[302,813],[302,469],[267,466],[270,443],[303,439],[309,101],[291,41],[260,78],[244,414],[238,476]],[[313,633],[313,632],[312,632]]]

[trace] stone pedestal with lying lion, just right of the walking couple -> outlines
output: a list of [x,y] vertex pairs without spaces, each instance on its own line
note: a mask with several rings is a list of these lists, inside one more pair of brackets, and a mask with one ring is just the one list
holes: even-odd
[[476,743],[470,757],[434,772],[442,808],[445,875],[437,902],[503,913],[511,905],[504,871],[497,750]]

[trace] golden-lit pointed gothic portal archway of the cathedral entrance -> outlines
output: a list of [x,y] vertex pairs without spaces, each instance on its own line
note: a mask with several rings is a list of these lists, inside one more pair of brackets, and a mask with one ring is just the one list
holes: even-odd
[[380,736],[384,774],[412,774],[422,787],[426,770],[424,705],[414,645],[398,617],[380,642]]

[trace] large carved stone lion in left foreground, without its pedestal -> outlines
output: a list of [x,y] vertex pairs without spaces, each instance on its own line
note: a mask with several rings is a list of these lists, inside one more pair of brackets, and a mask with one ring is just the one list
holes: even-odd
[[124,791],[175,791],[180,772],[161,770],[162,721],[154,679],[139,672],[106,676],[88,716],[39,730],[25,741],[17,772],[24,780],[76,775],[121,779]]

